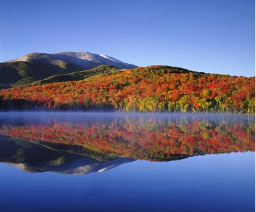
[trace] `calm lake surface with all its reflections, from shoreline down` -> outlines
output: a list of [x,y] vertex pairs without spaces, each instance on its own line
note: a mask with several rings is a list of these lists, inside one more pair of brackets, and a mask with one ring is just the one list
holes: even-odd
[[254,115],[0,113],[0,211],[255,211]]

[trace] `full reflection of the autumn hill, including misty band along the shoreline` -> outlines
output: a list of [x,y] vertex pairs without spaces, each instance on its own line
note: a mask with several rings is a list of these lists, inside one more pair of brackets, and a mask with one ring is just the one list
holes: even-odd
[[7,115],[0,134],[106,160],[123,156],[169,161],[255,151],[255,117],[248,115]]

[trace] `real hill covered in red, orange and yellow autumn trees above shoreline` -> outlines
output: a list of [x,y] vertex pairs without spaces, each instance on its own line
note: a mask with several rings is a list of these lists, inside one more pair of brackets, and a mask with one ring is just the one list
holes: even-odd
[[150,66],[0,91],[0,108],[255,113],[255,77]]

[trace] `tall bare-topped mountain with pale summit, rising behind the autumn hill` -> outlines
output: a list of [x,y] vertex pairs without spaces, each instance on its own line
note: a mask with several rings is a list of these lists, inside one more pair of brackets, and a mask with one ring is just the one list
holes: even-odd
[[111,56],[89,52],[35,52],[0,63],[0,89],[24,86],[53,75],[70,74],[101,65],[115,66],[118,69],[137,67]]

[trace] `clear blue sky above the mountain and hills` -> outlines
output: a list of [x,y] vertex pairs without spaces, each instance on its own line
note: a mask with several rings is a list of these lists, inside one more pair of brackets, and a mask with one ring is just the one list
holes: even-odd
[[255,76],[254,0],[0,0],[0,61],[85,51]]

